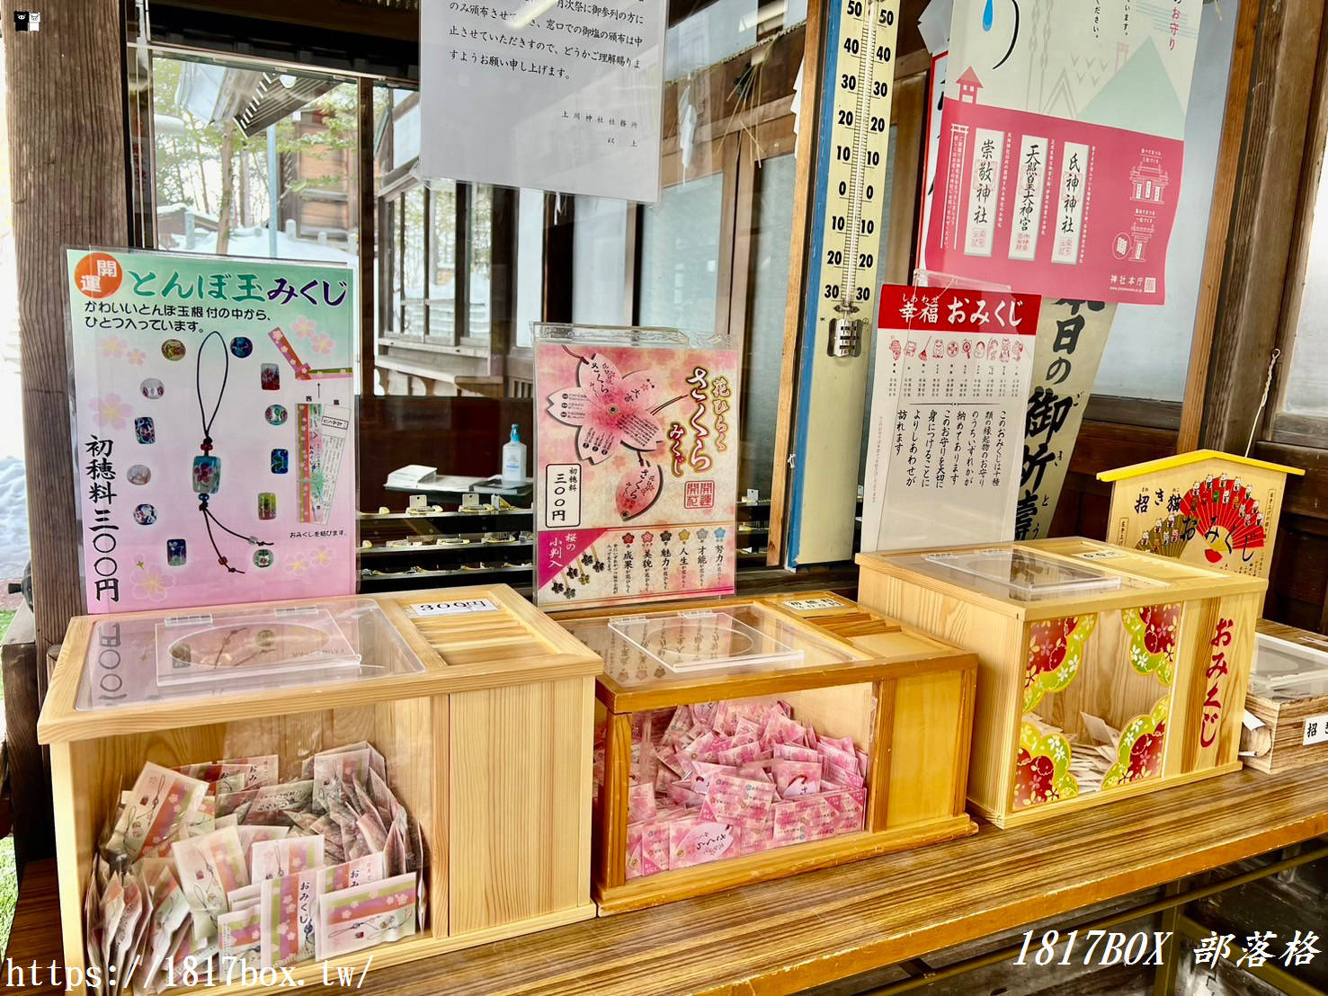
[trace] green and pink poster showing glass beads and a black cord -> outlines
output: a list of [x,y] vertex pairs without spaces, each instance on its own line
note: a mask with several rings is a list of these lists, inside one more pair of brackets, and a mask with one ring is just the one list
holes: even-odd
[[66,258],[88,611],[353,594],[352,270]]

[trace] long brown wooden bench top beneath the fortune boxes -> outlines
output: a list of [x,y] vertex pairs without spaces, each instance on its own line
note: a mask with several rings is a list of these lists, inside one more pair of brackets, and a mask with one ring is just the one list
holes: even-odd
[[[376,971],[361,993],[781,993],[1328,833],[1328,768],[1211,778],[1016,830],[620,914]],[[17,963],[49,963],[49,863]],[[312,988],[312,987],[311,987]]]

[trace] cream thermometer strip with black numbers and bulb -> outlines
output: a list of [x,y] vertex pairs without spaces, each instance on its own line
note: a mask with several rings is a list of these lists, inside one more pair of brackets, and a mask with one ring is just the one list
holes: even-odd
[[[858,356],[872,311],[886,191],[898,0],[841,0],[821,218],[818,324],[827,352]],[[831,28],[834,25],[831,24]]]

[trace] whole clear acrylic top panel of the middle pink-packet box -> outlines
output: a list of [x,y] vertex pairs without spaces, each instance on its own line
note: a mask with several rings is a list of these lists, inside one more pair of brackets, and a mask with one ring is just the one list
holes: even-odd
[[633,692],[859,659],[753,604],[716,607],[703,615],[594,616],[560,625],[604,660],[610,681]]

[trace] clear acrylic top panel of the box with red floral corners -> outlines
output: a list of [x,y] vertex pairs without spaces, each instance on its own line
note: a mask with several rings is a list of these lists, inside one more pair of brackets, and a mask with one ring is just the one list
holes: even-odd
[[1023,547],[922,554],[900,559],[900,563],[919,574],[1016,602],[1076,598],[1123,586],[1118,574],[1088,563],[1066,563]]

